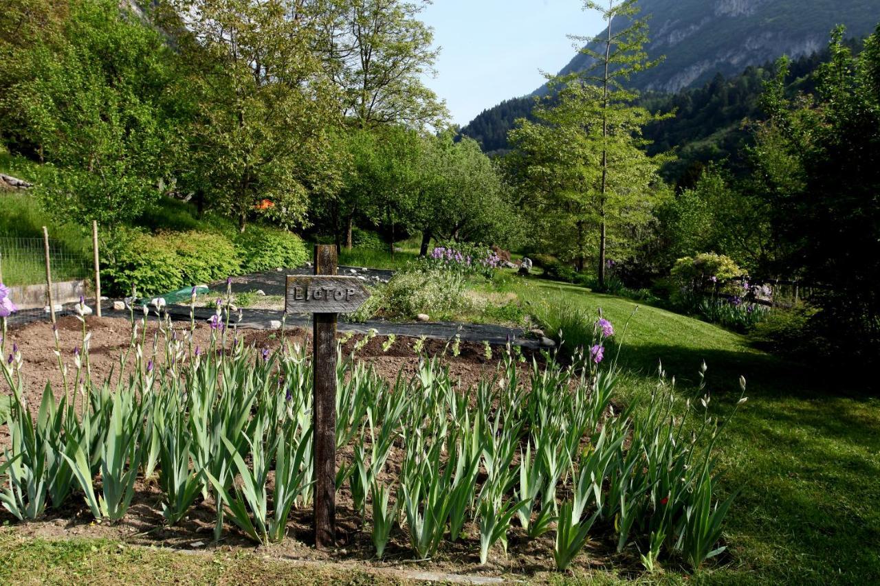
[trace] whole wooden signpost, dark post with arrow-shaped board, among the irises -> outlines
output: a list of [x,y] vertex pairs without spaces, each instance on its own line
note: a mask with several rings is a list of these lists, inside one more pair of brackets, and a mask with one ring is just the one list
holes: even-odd
[[314,331],[315,546],[335,545],[336,532],[336,315],[355,311],[370,292],[354,276],[336,275],[336,246],[315,245],[315,274],[287,275],[286,313],[312,313]]

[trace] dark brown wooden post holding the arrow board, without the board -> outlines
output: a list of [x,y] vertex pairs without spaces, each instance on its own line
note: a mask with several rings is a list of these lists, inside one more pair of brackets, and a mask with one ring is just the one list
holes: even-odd
[[[315,275],[336,275],[336,246],[315,245]],[[315,546],[336,545],[336,313],[315,313],[312,434]]]

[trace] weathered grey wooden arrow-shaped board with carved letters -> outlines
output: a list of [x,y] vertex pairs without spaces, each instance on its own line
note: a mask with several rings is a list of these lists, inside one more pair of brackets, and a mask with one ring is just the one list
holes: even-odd
[[287,275],[287,313],[350,313],[370,297],[355,276]]

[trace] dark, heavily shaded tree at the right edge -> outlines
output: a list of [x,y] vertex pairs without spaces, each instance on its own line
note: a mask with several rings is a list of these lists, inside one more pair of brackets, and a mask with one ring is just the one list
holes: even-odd
[[[768,85],[769,120],[752,160],[774,210],[781,265],[831,286],[818,298],[829,338],[880,355],[880,26],[853,55],[843,29],[818,69],[814,97],[786,97],[788,62]],[[844,335],[844,333],[846,333]],[[846,338],[846,342],[844,342]],[[851,341],[858,343],[852,344]]]

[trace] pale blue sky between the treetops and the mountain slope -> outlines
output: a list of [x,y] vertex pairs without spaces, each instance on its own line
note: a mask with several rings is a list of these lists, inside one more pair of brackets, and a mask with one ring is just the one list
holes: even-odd
[[441,48],[436,77],[425,84],[446,100],[462,126],[504,99],[533,92],[540,70],[556,73],[575,56],[567,34],[602,27],[580,0],[434,0],[422,21]]

